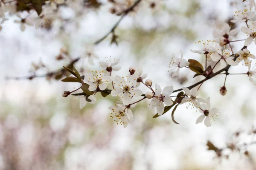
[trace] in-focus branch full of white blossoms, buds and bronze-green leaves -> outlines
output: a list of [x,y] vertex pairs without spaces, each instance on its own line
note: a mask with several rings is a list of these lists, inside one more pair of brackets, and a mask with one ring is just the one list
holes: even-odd
[[[161,116],[172,107],[175,107],[173,109],[174,113],[177,106],[186,105],[186,108],[192,107],[202,113],[195,120],[196,124],[204,122],[204,125],[207,127],[211,126],[212,122],[217,118],[218,113],[220,113],[220,110],[218,108],[211,108],[210,97],[203,99],[198,96],[198,91],[205,81],[215,77],[217,74],[225,74],[227,77],[230,74],[228,71],[231,66],[242,63],[241,65],[248,68],[247,73],[242,74],[247,75],[250,82],[256,85],[254,80],[256,78],[256,66],[252,68],[253,59],[256,57],[247,49],[247,46],[251,45],[253,41],[256,44],[256,28],[253,23],[256,6],[253,0],[247,0],[246,3],[250,8],[236,11],[235,19],[232,20],[234,23],[244,23],[244,26],[241,26],[240,30],[247,35],[246,39],[234,40],[236,34],[239,32],[239,28],[231,29],[231,26],[224,23],[221,28],[213,32],[215,40],[198,41],[196,44],[201,45],[201,47],[190,50],[192,53],[197,53],[205,57],[205,66],[195,59],[186,60],[183,58],[182,51],[180,57],[172,54],[169,62],[170,69],[168,70],[172,72],[172,77],[178,76],[181,68],[188,68],[190,71],[196,73],[194,77],[204,77],[200,82],[177,90],[174,90],[173,85],[161,88],[157,83],[153,85],[151,79],[146,79],[147,74],[143,74],[142,68],[130,67],[126,75],[114,76],[113,74],[116,74],[121,69],[121,66],[118,65],[120,60],[105,59],[104,61],[99,61],[101,70],[84,74],[83,80],[81,80],[81,76],[76,71],[71,71],[77,77],[77,79],[72,81],[81,82],[81,89],[84,91],[81,94],[80,107],[83,108],[87,102],[91,104],[95,103],[96,98],[94,95],[101,92],[104,97],[111,94],[111,96],[119,98],[118,104],[109,107],[109,110],[111,111],[110,117],[113,121],[118,125],[123,125],[123,127],[127,127],[128,123],[133,120],[131,107],[134,107],[138,102],[145,99],[150,100],[148,107],[156,108],[157,114],[154,117]],[[230,45],[236,41],[244,41],[244,46],[237,52],[233,51]],[[210,63],[209,61],[212,62]],[[215,69],[218,68],[221,69],[216,71]],[[68,81],[70,80],[71,78],[68,78]],[[227,92],[225,82],[224,86],[220,89],[222,95],[225,95]],[[140,90],[140,85],[145,85],[148,91],[143,93]],[[179,93],[175,94],[177,92]],[[65,93],[64,97],[70,93]],[[177,123],[174,119],[173,121]]]

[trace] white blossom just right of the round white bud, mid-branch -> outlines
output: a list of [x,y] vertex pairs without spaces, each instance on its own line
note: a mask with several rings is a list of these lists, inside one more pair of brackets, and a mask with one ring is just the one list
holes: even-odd
[[173,85],[166,86],[165,88],[163,88],[162,92],[160,85],[156,84],[154,92],[155,94],[153,98],[151,98],[151,102],[149,103],[149,105],[151,106],[151,108],[157,107],[158,115],[162,115],[164,111],[164,104],[167,106],[173,104],[172,98],[170,97],[173,92]]

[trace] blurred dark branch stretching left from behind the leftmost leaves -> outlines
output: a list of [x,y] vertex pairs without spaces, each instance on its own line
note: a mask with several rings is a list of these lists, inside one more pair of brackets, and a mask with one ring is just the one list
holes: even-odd
[[[70,63],[67,65],[67,67],[73,66],[73,64],[78,62],[79,59],[80,59],[80,57],[71,60]],[[64,74],[65,71],[66,71],[65,68],[61,68],[61,69],[58,69],[58,70],[55,70],[55,71],[47,72],[46,74],[41,74],[41,75],[32,74],[32,75],[24,76],[24,77],[6,77],[6,79],[15,79],[15,80],[29,79],[29,80],[32,80],[32,79],[37,78],[37,77],[52,77],[54,75]]]

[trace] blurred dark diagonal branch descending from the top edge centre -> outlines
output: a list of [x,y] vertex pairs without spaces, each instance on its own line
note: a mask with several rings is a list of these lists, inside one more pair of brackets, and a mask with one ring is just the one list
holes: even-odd
[[97,40],[94,44],[97,45],[100,42],[102,42],[105,38],[108,37],[109,34],[113,33],[115,31],[115,29],[117,28],[117,26],[119,25],[119,23],[122,21],[122,19],[129,14],[129,12],[133,11],[134,7],[137,6],[142,0],[137,0],[132,6],[130,6],[129,8],[125,9],[124,11],[120,12],[118,15],[121,15],[121,18],[117,21],[117,23],[113,26],[113,28],[101,39]]

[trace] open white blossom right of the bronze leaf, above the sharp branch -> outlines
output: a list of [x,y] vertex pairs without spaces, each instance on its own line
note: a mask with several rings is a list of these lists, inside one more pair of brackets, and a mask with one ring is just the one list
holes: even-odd
[[234,61],[232,59],[232,57],[230,56],[230,53],[231,53],[230,48],[226,48],[226,46],[224,46],[224,49],[222,51],[221,46],[218,45],[217,43],[215,44],[215,48],[216,48],[218,54],[217,53],[211,54],[211,58],[213,61],[218,62],[220,60],[222,67],[226,67],[227,64],[228,65],[238,65],[238,63],[236,61]]

